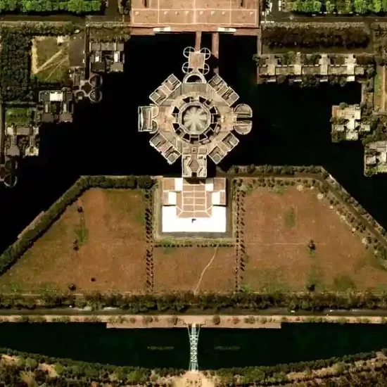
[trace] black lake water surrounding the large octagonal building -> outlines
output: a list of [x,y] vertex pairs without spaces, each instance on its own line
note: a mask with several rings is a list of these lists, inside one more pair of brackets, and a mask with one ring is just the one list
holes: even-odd
[[[0,187],[4,249],[20,231],[58,198],[79,175],[177,175],[180,165],[164,162],[148,138],[137,132],[137,108],[170,73],[181,73],[182,51],[194,34],[132,37],[125,73],[106,75],[103,101],[77,106],[74,122],[42,130],[41,156],[20,161],[18,186]],[[202,46],[210,46],[203,34]],[[233,50],[232,55],[228,53]],[[363,175],[360,142],[332,144],[330,111],[343,101],[360,102],[360,84],[299,88],[256,85],[255,39],[220,37],[220,74],[253,108],[253,130],[220,167],[230,165],[323,165],[364,208],[387,227],[386,177]],[[167,60],[163,61],[163,58]],[[141,155],[141,163],[138,155]],[[209,175],[215,172],[212,163]]]

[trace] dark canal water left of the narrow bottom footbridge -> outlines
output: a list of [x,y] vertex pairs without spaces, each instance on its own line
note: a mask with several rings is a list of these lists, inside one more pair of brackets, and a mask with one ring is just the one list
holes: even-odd
[[189,366],[186,329],[106,329],[105,324],[1,324],[0,347],[84,362]]

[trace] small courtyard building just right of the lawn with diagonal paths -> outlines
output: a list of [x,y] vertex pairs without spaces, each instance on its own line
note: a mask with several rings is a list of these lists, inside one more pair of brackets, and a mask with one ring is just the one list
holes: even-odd
[[89,42],[91,72],[122,72],[125,63],[123,42]]

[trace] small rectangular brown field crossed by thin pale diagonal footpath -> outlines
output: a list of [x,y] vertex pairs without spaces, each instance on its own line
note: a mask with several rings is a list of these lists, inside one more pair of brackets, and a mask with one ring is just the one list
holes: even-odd
[[156,292],[234,291],[235,250],[232,247],[217,248],[216,252],[212,247],[155,248],[153,257]]

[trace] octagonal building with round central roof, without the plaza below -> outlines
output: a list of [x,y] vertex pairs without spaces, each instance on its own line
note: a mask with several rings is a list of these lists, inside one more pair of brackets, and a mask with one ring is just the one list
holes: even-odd
[[139,108],[139,132],[153,135],[151,146],[167,163],[182,158],[182,176],[207,176],[207,157],[215,164],[231,151],[239,139],[232,133],[248,134],[252,128],[250,106],[239,104],[238,94],[215,74],[209,81],[208,49],[184,49],[185,76],[174,74],[153,91],[153,103]]

